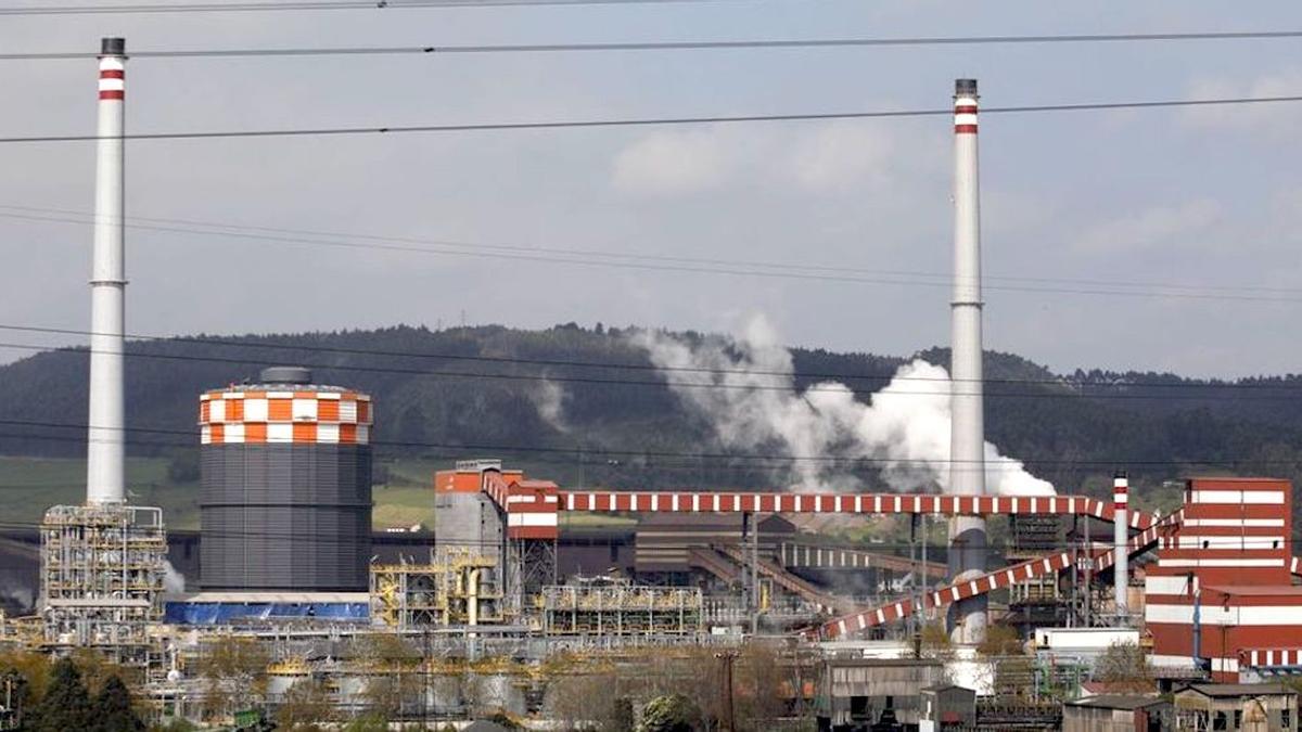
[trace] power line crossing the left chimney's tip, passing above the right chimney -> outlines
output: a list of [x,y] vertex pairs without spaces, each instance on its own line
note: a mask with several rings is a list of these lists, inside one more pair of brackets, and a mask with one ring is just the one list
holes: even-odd
[[[5,14],[0,9],[0,14]],[[428,46],[354,46],[297,48],[191,48],[132,51],[132,59],[246,59],[296,56],[435,56],[452,53],[557,53],[607,51],[729,51],[747,48],[881,48],[918,46],[1006,46],[1056,43],[1135,43],[1184,40],[1269,40],[1302,38],[1302,30],[1228,33],[1125,33],[1070,35],[965,35],[914,38],[803,38],[742,40],[647,40],[615,43],[499,43]],[[0,53],[0,61],[64,61],[95,59],[83,51]]]

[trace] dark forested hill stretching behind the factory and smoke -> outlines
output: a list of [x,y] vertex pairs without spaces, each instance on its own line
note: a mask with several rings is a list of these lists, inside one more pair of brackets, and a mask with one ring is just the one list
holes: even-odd
[[[630,487],[772,482],[754,461],[702,456],[723,451],[710,425],[616,328],[195,336],[132,343],[128,352],[135,455],[193,451],[199,392],[255,378],[267,365],[297,363],[312,367],[319,383],[374,396],[381,455],[504,456],[559,481],[582,473],[590,483]],[[948,366],[945,349],[918,356]],[[798,386],[837,375],[874,391],[905,358],[797,349],[794,361]],[[82,455],[82,430],[57,425],[85,422],[86,370],[81,349],[0,367],[0,453]],[[1223,383],[1173,374],[1056,375],[1003,353],[986,356],[986,374],[988,438],[1060,490],[1101,486],[1118,466],[1156,485],[1213,470],[1294,477],[1302,460],[1297,376]],[[559,419],[549,419],[557,397]]]

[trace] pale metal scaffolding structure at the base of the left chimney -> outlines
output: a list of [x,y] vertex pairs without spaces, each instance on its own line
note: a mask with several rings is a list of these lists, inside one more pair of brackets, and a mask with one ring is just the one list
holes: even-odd
[[163,511],[122,504],[56,505],[40,525],[42,643],[95,647],[146,666],[150,624],[163,617]]

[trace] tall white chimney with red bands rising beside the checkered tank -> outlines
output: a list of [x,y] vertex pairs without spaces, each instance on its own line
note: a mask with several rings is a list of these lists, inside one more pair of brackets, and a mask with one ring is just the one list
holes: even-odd
[[91,266],[90,418],[86,501],[124,503],[122,326],[122,122],[126,40],[104,38],[99,55],[99,126],[95,152],[95,246]]

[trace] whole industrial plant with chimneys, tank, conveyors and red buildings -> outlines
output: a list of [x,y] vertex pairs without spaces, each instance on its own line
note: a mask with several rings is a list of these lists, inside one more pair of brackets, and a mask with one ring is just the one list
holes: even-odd
[[[86,500],[46,512],[36,613],[3,619],[0,643],[89,649],[137,675],[152,720],[245,729],[307,689],[336,728],[380,698],[393,729],[618,728],[609,697],[631,729],[689,668],[723,699],[711,729],[1298,724],[1289,482],[1189,477],[1165,513],[1131,504],[1125,465],[1107,499],[987,483],[975,79],[953,92],[944,492],[565,486],[470,453],[430,470],[432,526],[378,533],[374,435],[397,405],[275,366],[195,395],[198,573],[176,586],[168,517],[125,486],[125,68],[104,39]],[[913,539],[807,529],[828,517],[896,517]],[[767,681],[737,683],[754,649]],[[1126,653],[1151,688],[1105,667]],[[590,709],[562,711],[575,696]]]

